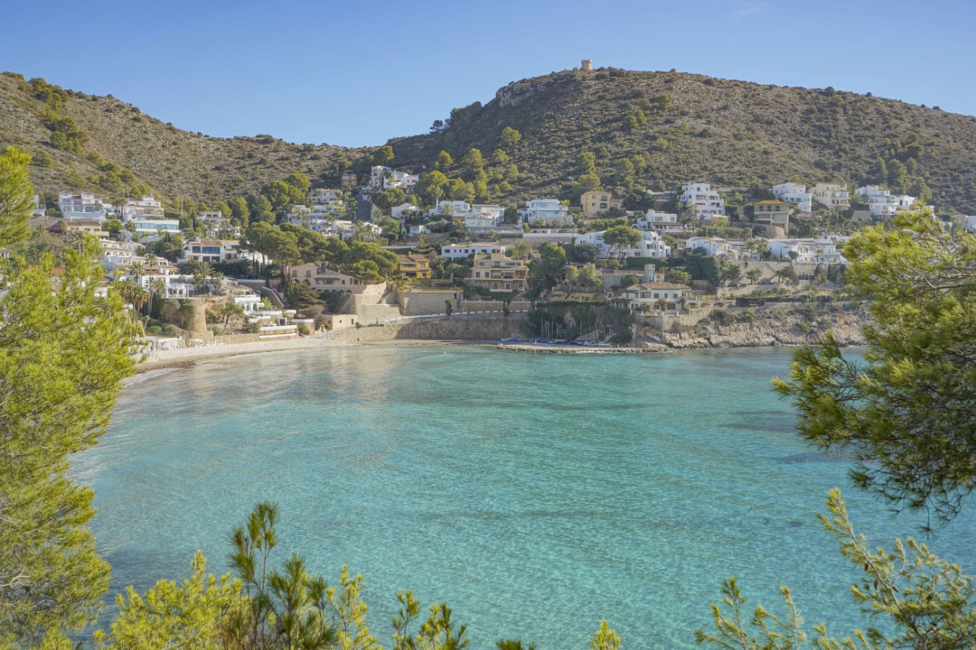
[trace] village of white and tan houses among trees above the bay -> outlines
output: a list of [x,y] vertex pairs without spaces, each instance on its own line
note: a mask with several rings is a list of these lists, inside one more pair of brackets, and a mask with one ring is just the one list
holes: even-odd
[[[761,190],[688,182],[646,191],[644,210],[598,187],[575,203],[502,206],[425,190],[429,176],[375,165],[312,188],[293,174],[281,183],[292,200],[266,220],[241,219],[241,203],[174,214],[152,195],[62,192],[50,209],[35,198],[34,239],[99,240],[103,285],[120,288],[150,353],[445,317],[517,318],[524,325],[510,328],[525,335],[634,345],[715,313],[850,299],[850,234],[920,207],[876,185],[798,179]],[[976,217],[951,224],[972,230]],[[639,331],[657,334],[635,341]]]

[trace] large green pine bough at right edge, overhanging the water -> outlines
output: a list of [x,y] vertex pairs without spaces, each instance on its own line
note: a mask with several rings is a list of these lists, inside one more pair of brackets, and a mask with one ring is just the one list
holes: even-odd
[[896,508],[955,516],[976,487],[976,237],[905,213],[844,255],[848,285],[872,298],[868,363],[828,337],[796,355],[777,390],[804,437],[854,455],[855,484]]

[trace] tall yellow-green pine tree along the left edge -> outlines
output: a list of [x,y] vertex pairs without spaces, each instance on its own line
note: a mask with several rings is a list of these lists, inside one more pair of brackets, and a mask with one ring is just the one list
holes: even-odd
[[[0,241],[17,247],[29,209],[26,158],[0,156]],[[14,188],[14,189],[12,189]],[[32,194],[32,188],[30,188]],[[96,297],[99,245],[84,238],[55,260],[15,255],[0,298],[0,646],[34,644],[91,622],[108,565],[86,527],[92,490],[68,478],[68,455],[108,425],[121,380],[133,368],[132,326],[121,297]],[[54,290],[53,290],[54,289]]]

